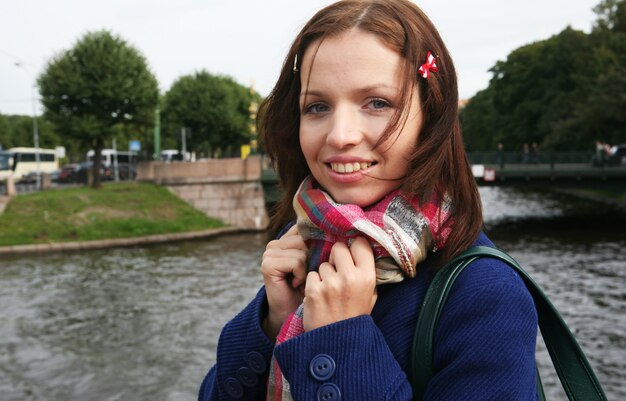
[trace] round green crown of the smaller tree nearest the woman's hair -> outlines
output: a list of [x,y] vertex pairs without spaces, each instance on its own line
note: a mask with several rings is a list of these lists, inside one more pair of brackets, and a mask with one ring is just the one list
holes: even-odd
[[250,102],[258,94],[226,76],[200,71],[179,78],[165,94],[161,109],[164,147],[180,148],[181,128],[190,136],[187,149],[198,155],[232,155],[248,143]]

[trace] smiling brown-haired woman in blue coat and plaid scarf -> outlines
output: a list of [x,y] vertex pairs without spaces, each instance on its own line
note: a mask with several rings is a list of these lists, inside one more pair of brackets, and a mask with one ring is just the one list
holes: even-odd
[[[200,400],[412,399],[433,272],[493,246],[457,102],[452,60],[413,3],[341,1],[305,25],[260,113],[284,193],[265,285],[223,329]],[[426,399],[536,399],[536,328],[520,278],[473,262],[438,324]]]

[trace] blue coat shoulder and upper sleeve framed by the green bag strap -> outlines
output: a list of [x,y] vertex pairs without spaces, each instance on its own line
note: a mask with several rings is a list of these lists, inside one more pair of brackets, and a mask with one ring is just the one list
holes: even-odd
[[434,338],[425,400],[536,400],[537,314],[521,278],[493,259],[459,276]]

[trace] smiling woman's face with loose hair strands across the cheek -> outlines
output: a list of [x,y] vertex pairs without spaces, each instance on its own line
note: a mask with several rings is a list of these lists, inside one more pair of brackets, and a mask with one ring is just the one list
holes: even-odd
[[359,29],[325,38],[316,48],[313,43],[305,51],[300,73],[302,152],[335,201],[369,206],[408,173],[422,123],[417,89],[405,124],[375,147],[403,107],[400,55]]

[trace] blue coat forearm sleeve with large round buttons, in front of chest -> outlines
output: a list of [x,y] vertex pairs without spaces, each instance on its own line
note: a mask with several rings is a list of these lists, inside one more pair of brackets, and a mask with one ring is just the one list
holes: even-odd
[[294,400],[411,400],[406,375],[371,316],[311,330],[274,354]]

